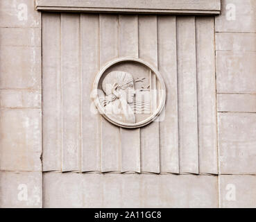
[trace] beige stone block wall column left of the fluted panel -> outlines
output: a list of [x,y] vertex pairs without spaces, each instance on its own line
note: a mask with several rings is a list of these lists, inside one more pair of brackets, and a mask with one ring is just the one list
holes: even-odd
[[42,207],[41,15],[0,1],[0,207]]

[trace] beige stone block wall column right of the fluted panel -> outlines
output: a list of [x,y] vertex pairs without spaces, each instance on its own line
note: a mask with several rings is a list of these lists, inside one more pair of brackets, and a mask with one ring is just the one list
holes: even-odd
[[255,13],[254,0],[223,0],[215,19],[220,207],[256,207]]

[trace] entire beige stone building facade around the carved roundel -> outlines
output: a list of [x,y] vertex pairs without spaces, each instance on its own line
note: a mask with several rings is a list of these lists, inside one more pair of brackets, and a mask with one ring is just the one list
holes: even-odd
[[[0,207],[256,207],[256,1],[86,2],[0,1]],[[166,88],[132,129],[91,94],[128,57]]]

